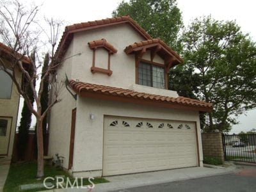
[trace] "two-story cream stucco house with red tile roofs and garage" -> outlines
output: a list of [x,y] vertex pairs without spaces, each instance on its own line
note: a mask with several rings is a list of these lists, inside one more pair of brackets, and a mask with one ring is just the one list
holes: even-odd
[[73,175],[202,166],[199,111],[212,104],[168,90],[183,60],[162,40],[116,17],[67,26],[56,56],[56,81],[70,86],[51,110],[49,155]]

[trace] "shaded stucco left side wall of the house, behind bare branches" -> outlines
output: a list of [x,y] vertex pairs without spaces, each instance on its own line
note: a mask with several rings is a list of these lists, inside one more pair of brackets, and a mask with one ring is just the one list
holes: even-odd
[[[72,55],[74,55],[73,43],[70,44],[64,58]],[[55,157],[55,154],[58,153],[60,156],[65,157],[63,162],[64,168],[68,168],[72,109],[76,108],[76,100],[67,92],[64,84],[66,79],[65,74],[67,74],[68,78],[71,76],[72,59],[73,57],[63,61],[62,67],[58,70],[56,80],[62,87],[59,97],[61,102],[53,106],[49,118],[48,154],[49,156]]]

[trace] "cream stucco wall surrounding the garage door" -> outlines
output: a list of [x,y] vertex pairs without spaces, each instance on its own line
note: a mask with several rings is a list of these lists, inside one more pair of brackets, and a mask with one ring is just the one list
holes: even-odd
[[[90,119],[90,114],[95,115],[93,120]],[[196,111],[156,108],[78,97],[74,175],[83,177],[102,175],[104,115],[196,122],[200,149],[200,166],[202,166],[200,122]]]

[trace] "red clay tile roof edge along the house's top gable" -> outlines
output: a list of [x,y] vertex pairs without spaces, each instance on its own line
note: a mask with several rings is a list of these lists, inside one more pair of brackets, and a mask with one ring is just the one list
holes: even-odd
[[127,23],[130,24],[136,31],[138,31],[145,39],[152,39],[152,37],[143,29],[141,26],[131,19],[130,16],[122,16],[122,17],[113,17],[110,19],[102,19],[95,20],[89,22],[81,22],[79,24],[73,24],[71,26],[67,26],[65,31],[61,37],[60,44],[58,45],[56,51],[56,57],[61,59],[61,57],[67,51],[68,45],[70,44],[73,34],[79,31],[86,31],[89,29],[102,28],[105,26],[112,26],[116,24]]

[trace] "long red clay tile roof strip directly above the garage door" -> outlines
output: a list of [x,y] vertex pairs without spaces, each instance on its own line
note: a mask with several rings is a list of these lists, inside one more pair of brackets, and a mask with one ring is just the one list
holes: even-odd
[[212,111],[211,103],[186,97],[166,97],[163,95],[134,92],[133,90],[101,84],[83,83],[74,80],[70,80],[70,86],[72,90],[81,97],[133,102],[136,104],[146,104],[148,106],[151,105],[166,108],[191,109],[202,112]]

